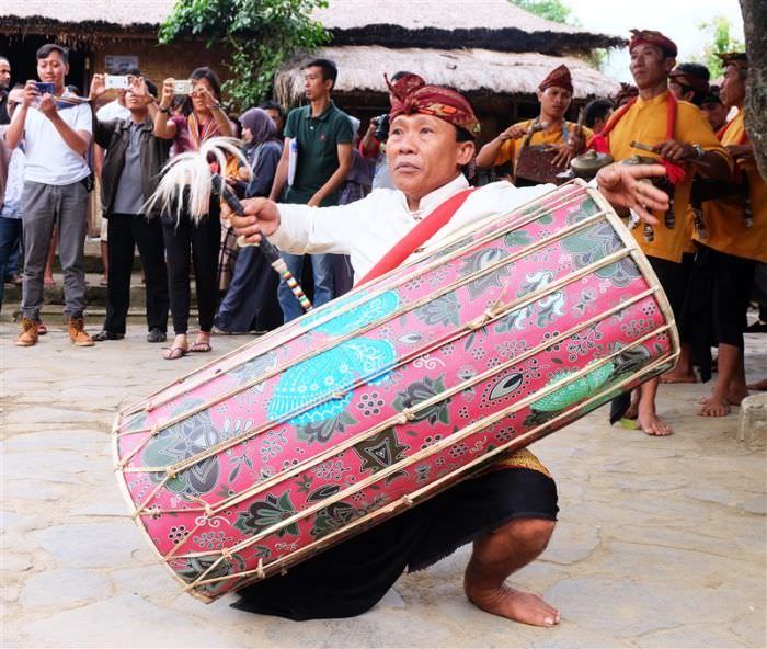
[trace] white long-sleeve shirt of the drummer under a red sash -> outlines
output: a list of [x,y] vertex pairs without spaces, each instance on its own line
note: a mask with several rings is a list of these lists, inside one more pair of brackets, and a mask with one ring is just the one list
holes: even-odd
[[[408,209],[402,192],[385,189],[374,190],[362,201],[337,207],[279,204],[279,228],[268,239],[281,250],[294,254],[348,254],[357,282],[419,220],[468,186],[466,177],[459,174],[421,198],[415,212]],[[420,249],[419,254],[427,254],[459,230],[477,228],[480,221],[507,214],[552,189],[553,185],[515,187],[505,181],[484,185],[469,195],[450,221]]]

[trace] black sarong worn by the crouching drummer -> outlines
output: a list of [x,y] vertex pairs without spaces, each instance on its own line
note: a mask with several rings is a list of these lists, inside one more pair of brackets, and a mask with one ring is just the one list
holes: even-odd
[[405,569],[426,568],[514,519],[554,521],[558,511],[557,486],[548,475],[519,467],[490,470],[285,576],[243,588],[232,606],[296,620],[359,615],[375,606]]

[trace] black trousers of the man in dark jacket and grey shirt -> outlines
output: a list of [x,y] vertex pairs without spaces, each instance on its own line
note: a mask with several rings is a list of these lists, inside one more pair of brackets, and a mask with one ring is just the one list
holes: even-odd
[[142,214],[112,214],[107,221],[110,273],[104,329],[125,333],[130,306],[130,273],[138,246],[147,294],[147,329],[168,329],[168,271],[160,220]]

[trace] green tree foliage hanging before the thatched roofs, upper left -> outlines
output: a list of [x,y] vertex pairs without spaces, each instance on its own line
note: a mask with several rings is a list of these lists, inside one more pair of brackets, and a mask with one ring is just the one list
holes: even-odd
[[224,91],[233,107],[245,109],[270,96],[275,72],[296,50],[330,39],[311,19],[313,9],[327,5],[327,0],[176,0],[159,41],[197,36],[208,48],[229,53]]

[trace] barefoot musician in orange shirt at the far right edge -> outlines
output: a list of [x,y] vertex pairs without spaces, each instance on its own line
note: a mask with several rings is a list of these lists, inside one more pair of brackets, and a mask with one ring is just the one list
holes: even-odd
[[700,414],[724,417],[731,406],[748,396],[743,367],[743,330],[757,262],[767,262],[767,183],[754,160],[743,115],[748,60],[744,53],[721,55],[724,81],[721,100],[737,114],[719,132],[722,145],[735,161],[734,194],[703,203],[702,224],[695,239],[710,284],[710,314],[719,344],[718,377]]

